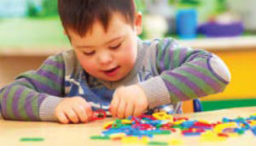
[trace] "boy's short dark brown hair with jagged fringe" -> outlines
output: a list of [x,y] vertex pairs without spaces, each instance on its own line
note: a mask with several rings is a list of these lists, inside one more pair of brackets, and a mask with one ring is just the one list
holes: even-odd
[[134,0],[58,0],[58,9],[64,29],[73,30],[79,36],[91,31],[96,20],[108,31],[113,12],[124,15],[133,24],[136,12]]

